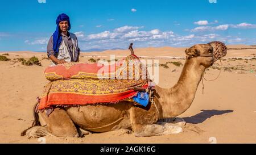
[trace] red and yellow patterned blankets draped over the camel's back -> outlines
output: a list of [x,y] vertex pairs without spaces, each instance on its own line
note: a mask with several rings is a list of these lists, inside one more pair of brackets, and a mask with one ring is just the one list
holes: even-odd
[[[131,61],[133,63],[129,65]],[[145,69],[135,55],[110,66],[74,62],[49,66],[45,74],[51,82],[43,91],[39,110],[54,105],[118,103],[131,98],[138,93],[133,90],[134,87],[148,87]],[[100,78],[102,76],[106,79]]]

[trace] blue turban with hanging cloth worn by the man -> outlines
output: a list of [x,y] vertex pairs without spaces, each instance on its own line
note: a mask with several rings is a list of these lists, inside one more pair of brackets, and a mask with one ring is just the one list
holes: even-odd
[[59,47],[60,47],[60,43],[62,41],[62,36],[61,36],[61,31],[60,31],[60,27],[59,27],[59,23],[62,21],[68,21],[68,30],[71,29],[71,24],[69,21],[69,16],[66,14],[60,14],[57,19],[56,19],[56,31],[53,33],[53,51],[55,54],[57,54],[59,52]]

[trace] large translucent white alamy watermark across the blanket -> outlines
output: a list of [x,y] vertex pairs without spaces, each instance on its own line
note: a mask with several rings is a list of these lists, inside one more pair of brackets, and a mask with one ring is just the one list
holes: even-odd
[[[151,79],[156,85],[159,83],[159,60],[122,60],[115,62],[115,55],[110,56],[110,62],[98,61],[100,68],[98,79]],[[103,65],[103,66],[102,66]]]

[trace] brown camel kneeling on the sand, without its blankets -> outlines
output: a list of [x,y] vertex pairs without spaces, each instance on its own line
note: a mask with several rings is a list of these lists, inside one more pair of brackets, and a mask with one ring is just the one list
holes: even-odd
[[80,137],[90,132],[118,129],[131,130],[136,137],[180,133],[185,122],[176,117],[191,106],[205,69],[225,56],[226,49],[219,41],[186,49],[187,57],[176,85],[170,89],[156,85],[154,98],[147,107],[121,101],[118,104],[56,107],[49,116],[46,112],[34,112],[34,123],[22,132],[22,136]]

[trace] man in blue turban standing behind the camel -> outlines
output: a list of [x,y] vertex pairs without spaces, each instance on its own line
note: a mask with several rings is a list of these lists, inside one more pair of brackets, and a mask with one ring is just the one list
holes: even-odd
[[69,16],[60,14],[57,16],[56,24],[56,31],[50,37],[47,45],[47,56],[52,60],[52,65],[78,62],[80,48],[76,35],[68,32],[71,29]]

